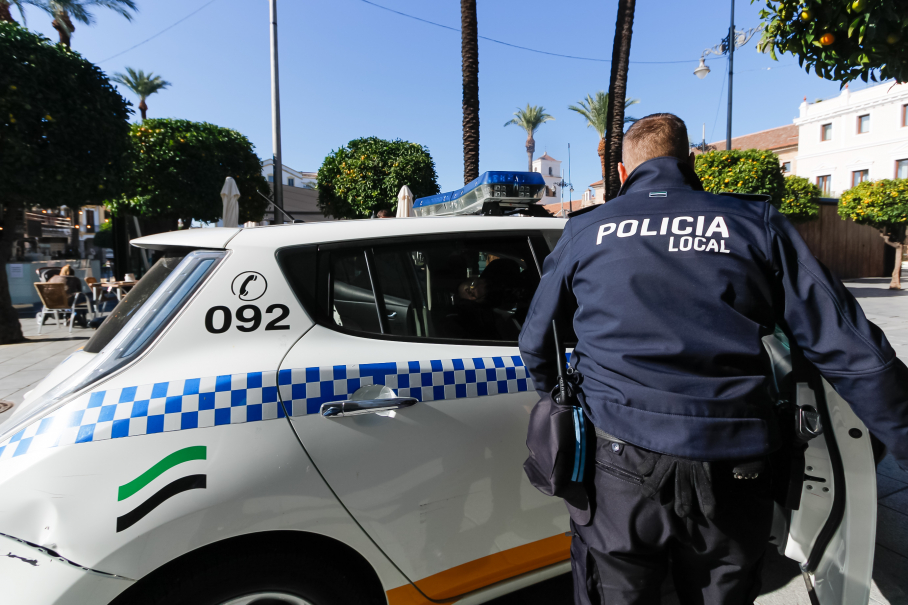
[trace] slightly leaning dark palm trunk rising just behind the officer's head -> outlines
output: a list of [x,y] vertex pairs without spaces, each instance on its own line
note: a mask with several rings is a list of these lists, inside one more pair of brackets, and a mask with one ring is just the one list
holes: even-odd
[[615,42],[612,45],[612,73],[608,85],[608,122],[605,133],[607,162],[602,170],[604,201],[613,199],[621,189],[618,163],[621,161],[621,144],[624,139],[624,99],[627,96],[627,66],[631,56],[635,4],[636,0],[618,0]]

